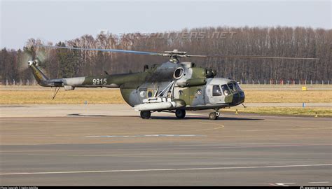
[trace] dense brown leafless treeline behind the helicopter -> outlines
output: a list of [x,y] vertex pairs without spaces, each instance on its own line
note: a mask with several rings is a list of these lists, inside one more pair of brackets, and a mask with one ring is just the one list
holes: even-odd
[[[31,38],[22,50],[2,49],[0,82],[31,80],[27,60],[41,59],[50,78],[142,71],[144,64],[167,57],[88,50],[31,47],[53,45]],[[58,46],[112,48],[139,51],[178,49],[189,55],[266,55],[270,57],[317,57],[319,60],[186,58],[198,66],[217,70],[218,77],[235,80],[331,80],[332,29],[305,27],[207,27],[160,34],[84,35]]]

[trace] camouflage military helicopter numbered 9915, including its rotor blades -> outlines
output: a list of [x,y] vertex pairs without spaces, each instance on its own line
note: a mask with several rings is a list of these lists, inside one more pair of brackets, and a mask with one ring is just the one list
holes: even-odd
[[[228,58],[269,58],[269,59],[316,59],[298,57],[265,57],[265,56],[229,56],[229,55],[187,55],[178,50],[165,52],[144,52],[134,50],[74,48],[50,45],[35,45],[43,48],[64,48],[70,50],[99,50],[103,52],[124,52],[138,55],[157,55],[169,57],[169,61],[154,64],[151,68],[144,66],[139,73],[122,73],[102,76],[85,76],[76,78],[49,79],[38,66],[39,61],[30,60],[29,67],[39,85],[55,87],[55,94],[60,87],[74,90],[75,87],[109,87],[120,88],[125,102],[141,118],[148,119],[151,112],[166,111],[175,113],[177,118],[186,116],[186,111],[213,109],[210,120],[216,120],[219,110],[237,106],[244,102],[244,92],[239,83],[228,78],[215,78],[214,69],[197,67],[193,62],[180,62],[181,57],[228,57]],[[243,104],[242,104],[243,105]]]

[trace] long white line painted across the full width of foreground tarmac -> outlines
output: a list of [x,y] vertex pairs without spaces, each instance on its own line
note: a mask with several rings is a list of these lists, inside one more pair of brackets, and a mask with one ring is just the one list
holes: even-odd
[[191,170],[218,170],[218,169],[265,169],[265,168],[284,168],[284,167],[321,167],[332,166],[332,164],[314,165],[271,165],[271,166],[249,166],[249,167],[202,167],[202,168],[173,168],[173,169],[124,169],[124,170],[104,170],[104,171],[68,171],[68,172],[16,172],[0,173],[3,175],[26,175],[26,174],[81,174],[81,173],[108,173],[108,172],[162,172],[162,171],[191,171]]

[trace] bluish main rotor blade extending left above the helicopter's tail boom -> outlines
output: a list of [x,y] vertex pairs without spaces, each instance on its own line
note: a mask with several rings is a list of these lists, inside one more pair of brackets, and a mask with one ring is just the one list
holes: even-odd
[[64,48],[71,50],[97,50],[102,52],[123,52],[123,53],[132,53],[137,55],[158,55],[163,56],[164,54],[159,52],[144,52],[144,51],[135,51],[135,50],[118,50],[118,49],[102,49],[102,48],[74,48],[74,47],[60,47],[60,46],[50,46],[50,45],[34,45],[37,47],[43,48]]

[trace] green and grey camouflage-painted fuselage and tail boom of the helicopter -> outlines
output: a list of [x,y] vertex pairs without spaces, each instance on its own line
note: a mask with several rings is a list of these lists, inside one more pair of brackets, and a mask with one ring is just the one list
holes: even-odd
[[[39,69],[37,62],[29,61],[29,67],[39,85],[43,87],[64,87],[65,90],[74,90],[75,87],[120,88],[123,99],[132,107],[143,104],[144,99],[155,97],[156,92],[165,89],[172,81],[172,97],[171,94],[167,96],[180,104],[181,109],[221,109],[244,102],[244,92],[240,87],[230,89],[230,86],[237,85],[234,80],[214,78],[214,70],[195,67],[192,62],[155,64],[151,69],[140,73],[57,79],[48,79]],[[228,94],[221,92],[221,95],[214,96],[214,85],[219,88],[224,85],[229,91]]]

